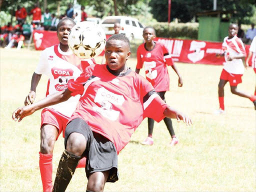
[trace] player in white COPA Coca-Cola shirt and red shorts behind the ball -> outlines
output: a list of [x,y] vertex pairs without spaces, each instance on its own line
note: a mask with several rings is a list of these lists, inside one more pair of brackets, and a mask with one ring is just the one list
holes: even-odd
[[[70,29],[75,25],[71,18],[64,18],[57,25],[59,44],[45,48],[37,67],[32,75],[31,88],[25,98],[25,105],[33,103],[36,86],[42,74],[49,77],[46,96],[62,91],[67,88],[67,83],[73,82],[80,73],[94,59],[81,60],[72,53],[67,45],[67,36]],[[67,101],[46,107],[41,112],[41,142],[39,152],[39,167],[43,191],[52,190],[52,152],[54,143],[62,132],[64,137],[65,126],[79,100],[79,95],[69,98]],[[80,162],[79,167],[85,166],[85,160]]]

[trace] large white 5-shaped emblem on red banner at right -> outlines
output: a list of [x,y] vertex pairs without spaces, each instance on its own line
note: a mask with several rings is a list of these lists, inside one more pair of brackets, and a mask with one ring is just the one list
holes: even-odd
[[204,41],[192,40],[191,43],[190,43],[189,50],[190,51],[192,50],[194,52],[188,53],[187,58],[189,60],[191,60],[192,62],[196,62],[196,61],[201,60],[204,56],[204,50],[201,50],[201,48],[204,48],[205,45],[206,45],[206,42],[204,42]]

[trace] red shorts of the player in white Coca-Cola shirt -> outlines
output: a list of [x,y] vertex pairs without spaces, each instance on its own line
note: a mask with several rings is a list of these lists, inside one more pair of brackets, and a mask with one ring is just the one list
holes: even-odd
[[65,137],[65,128],[66,123],[68,121],[68,117],[51,109],[51,108],[44,108],[41,112],[41,127],[43,124],[51,124],[58,129],[58,136],[62,131],[62,136]]

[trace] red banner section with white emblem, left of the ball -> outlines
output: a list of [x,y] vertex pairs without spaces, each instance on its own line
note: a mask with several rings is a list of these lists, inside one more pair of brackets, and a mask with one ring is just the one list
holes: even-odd
[[44,50],[59,43],[56,31],[50,30],[34,30],[33,41],[35,50]]

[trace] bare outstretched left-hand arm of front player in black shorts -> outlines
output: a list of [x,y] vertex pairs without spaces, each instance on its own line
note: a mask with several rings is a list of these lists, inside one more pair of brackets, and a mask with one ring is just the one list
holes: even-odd
[[57,104],[59,102],[66,101],[68,98],[71,97],[71,91],[67,88],[65,90],[53,93],[33,104],[18,107],[13,113],[12,113],[12,119],[21,121],[25,116],[29,116],[34,111],[39,110],[41,108],[44,108],[46,106],[50,106],[53,104]]

